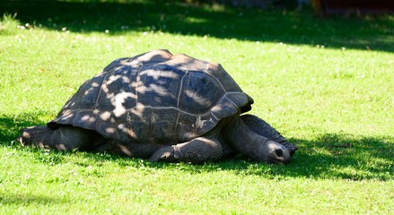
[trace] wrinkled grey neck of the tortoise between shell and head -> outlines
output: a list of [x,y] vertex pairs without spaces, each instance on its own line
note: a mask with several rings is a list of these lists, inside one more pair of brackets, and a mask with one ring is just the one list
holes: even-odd
[[240,116],[226,120],[228,121],[224,123],[222,131],[224,141],[243,155],[251,159],[258,159],[259,149],[268,139],[252,132],[248,125],[243,123]]

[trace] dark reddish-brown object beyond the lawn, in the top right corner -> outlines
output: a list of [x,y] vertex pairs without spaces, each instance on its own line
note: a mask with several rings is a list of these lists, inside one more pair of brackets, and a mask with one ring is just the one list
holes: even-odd
[[394,13],[391,0],[313,0],[315,8],[325,14],[386,14]]

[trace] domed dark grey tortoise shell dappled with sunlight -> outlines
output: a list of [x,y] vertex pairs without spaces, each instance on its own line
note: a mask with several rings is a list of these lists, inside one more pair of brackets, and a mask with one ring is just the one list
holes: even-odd
[[48,123],[118,142],[172,144],[211,131],[253,103],[220,64],[168,50],[113,61],[83,83]]

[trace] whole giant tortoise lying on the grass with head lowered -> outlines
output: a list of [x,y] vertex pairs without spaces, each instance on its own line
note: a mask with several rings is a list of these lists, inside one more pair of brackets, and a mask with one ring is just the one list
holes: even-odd
[[258,116],[241,115],[252,104],[221,64],[153,50],[113,61],[84,82],[47,126],[22,129],[18,141],[164,162],[201,163],[239,153],[289,162],[297,147]]

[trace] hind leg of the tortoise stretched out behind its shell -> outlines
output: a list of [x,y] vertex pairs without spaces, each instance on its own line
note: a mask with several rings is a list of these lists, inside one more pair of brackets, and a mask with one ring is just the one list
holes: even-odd
[[47,126],[32,126],[21,132],[22,135],[17,140],[22,145],[65,151],[87,147],[92,138],[87,130],[73,126],[61,126],[56,130]]

